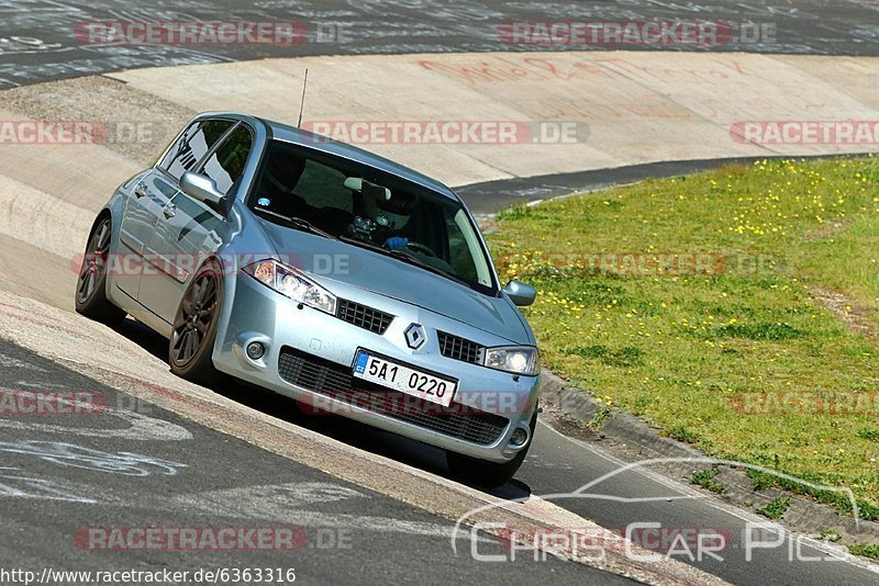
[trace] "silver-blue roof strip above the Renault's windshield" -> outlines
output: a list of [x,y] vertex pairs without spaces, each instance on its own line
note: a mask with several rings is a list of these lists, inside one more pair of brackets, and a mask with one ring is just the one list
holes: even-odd
[[300,145],[320,153],[325,153],[327,155],[342,157],[354,162],[367,165],[380,171],[394,174],[401,179],[405,179],[407,181],[411,181],[412,183],[435,191],[450,200],[460,202],[458,195],[447,185],[423,173],[420,173],[414,169],[410,169],[405,165],[392,161],[354,145],[341,143],[327,136],[303,131],[289,124],[282,124],[280,122],[266,119],[256,120],[260,121],[269,129],[269,138],[277,138],[279,140]]

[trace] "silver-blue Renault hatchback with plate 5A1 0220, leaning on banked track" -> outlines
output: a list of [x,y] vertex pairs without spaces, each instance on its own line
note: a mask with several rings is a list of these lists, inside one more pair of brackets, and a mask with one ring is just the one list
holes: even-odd
[[171,371],[234,376],[510,480],[532,442],[537,348],[447,187],[366,150],[197,116],[94,221],[76,308],[169,339]]

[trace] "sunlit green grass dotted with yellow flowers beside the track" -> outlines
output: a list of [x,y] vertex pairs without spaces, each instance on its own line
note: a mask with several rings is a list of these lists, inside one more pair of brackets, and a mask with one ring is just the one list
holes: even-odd
[[[515,207],[542,360],[722,459],[879,519],[879,160],[761,161]],[[771,474],[850,511],[841,493]]]

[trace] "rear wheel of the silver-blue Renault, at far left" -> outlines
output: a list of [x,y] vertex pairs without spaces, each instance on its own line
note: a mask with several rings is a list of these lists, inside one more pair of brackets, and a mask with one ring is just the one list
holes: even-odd
[[108,325],[118,324],[125,318],[125,312],[107,298],[107,259],[110,256],[112,228],[113,221],[109,214],[94,222],[86,244],[74,295],[79,314]]

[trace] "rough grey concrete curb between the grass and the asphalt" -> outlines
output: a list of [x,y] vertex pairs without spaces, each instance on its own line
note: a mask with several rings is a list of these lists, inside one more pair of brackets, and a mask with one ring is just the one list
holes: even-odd
[[[585,390],[572,386],[546,369],[543,370],[542,376],[544,383],[541,399],[544,409],[550,416],[561,417],[563,422],[566,420],[568,424],[572,422],[581,431],[591,430],[591,433],[598,433],[602,440],[622,444],[625,448],[625,460],[627,461],[656,458],[693,460],[711,458],[709,454],[687,443],[663,437],[659,428],[616,409],[611,409],[603,425],[598,429],[593,429],[590,422],[602,406],[592,395]],[[637,457],[637,460],[633,457]],[[678,481],[682,480],[686,483],[691,482],[690,478],[693,472],[710,467],[710,463],[681,461],[658,466],[663,473],[671,475]],[[650,470],[655,470],[655,467],[652,465]],[[842,536],[841,543],[843,544],[865,541],[879,542],[877,540],[879,522],[864,519],[856,521],[855,518],[842,515],[826,505],[778,488],[757,492],[753,488],[750,478],[745,473],[744,467],[724,465],[720,466],[719,470],[720,472],[715,480],[726,487],[726,492],[723,495],[712,495],[716,498],[722,498],[727,503],[754,512],[775,498],[789,497],[790,508],[785,515],[782,523],[788,529],[813,536],[827,529],[835,529]],[[705,492],[708,493],[708,491]]]

